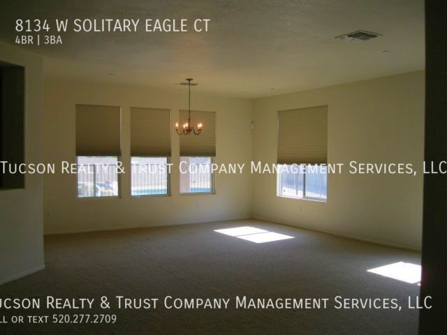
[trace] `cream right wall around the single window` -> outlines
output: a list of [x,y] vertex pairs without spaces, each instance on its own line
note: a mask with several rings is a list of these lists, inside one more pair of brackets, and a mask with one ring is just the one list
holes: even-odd
[[[276,162],[277,111],[328,105],[328,163],[423,161],[424,73],[254,101],[254,160]],[[331,174],[328,201],[279,198],[276,176],[254,176],[254,216],[420,249],[423,175]]]

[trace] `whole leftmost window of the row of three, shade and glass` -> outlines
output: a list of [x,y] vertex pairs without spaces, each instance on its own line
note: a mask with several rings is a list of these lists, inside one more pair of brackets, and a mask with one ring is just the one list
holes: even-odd
[[76,105],[78,198],[119,196],[121,108]]

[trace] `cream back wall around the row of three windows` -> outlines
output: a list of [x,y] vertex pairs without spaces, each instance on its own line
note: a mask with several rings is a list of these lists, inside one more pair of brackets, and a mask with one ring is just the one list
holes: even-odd
[[[192,91],[191,108],[217,112],[217,163],[249,163],[252,102],[203,96]],[[97,87],[84,82],[45,80],[43,143],[46,163],[75,163],[75,104],[122,107],[122,161],[129,172],[130,107],[170,108],[173,121],[187,107],[186,89],[159,91]],[[173,159],[178,166],[179,135],[173,131]],[[122,175],[121,199],[78,200],[74,174],[45,175],[45,233],[149,227],[251,216],[252,179],[246,174],[218,174],[214,195],[179,195],[179,172],[173,169],[169,197],[130,197],[130,174]]]

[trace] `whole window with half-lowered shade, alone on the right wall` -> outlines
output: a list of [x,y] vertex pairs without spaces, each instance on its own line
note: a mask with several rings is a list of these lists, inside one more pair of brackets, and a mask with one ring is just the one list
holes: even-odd
[[328,107],[278,113],[277,195],[327,200]]

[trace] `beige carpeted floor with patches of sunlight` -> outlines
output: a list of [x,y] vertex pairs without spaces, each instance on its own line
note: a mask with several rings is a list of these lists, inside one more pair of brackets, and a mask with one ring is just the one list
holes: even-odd
[[[256,244],[214,232],[251,226],[294,237]],[[112,308],[7,311],[116,314],[108,324],[0,324],[0,334],[417,334],[406,307],[419,286],[367,272],[419,255],[261,221],[45,237],[46,269],[0,286],[4,297],[96,298]],[[115,296],[158,297],[156,309],[117,309]],[[167,309],[166,296],[230,298],[228,309]],[[329,298],[323,309],[236,309],[235,297]],[[334,298],[397,298],[402,311],[337,309]],[[95,302],[95,304],[97,304]],[[4,312],[4,309],[0,309]],[[0,315],[1,320],[1,315]]]

